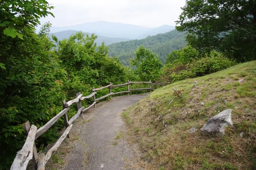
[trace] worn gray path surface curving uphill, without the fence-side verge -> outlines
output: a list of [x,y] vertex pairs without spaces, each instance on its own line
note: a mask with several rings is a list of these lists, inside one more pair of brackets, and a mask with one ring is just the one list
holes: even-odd
[[113,97],[97,104],[90,122],[81,126],[78,144],[68,154],[65,170],[139,170],[132,166],[134,149],[126,142],[121,113],[147,96],[138,94]]

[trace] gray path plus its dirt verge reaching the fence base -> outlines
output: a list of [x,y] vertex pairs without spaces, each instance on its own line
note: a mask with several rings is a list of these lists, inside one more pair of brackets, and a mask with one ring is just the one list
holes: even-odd
[[[127,142],[121,113],[148,94],[113,97],[77,119],[51,160],[49,170],[142,170],[140,151]],[[48,168],[47,168],[48,167]]]

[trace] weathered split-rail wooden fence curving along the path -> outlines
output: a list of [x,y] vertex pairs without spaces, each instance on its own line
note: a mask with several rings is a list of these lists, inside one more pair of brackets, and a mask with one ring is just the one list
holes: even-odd
[[[134,83],[147,83],[149,84],[149,88],[139,88],[139,89],[129,89],[129,85],[134,84]],[[128,82],[125,84],[121,85],[113,85],[111,82],[109,85],[101,87],[101,88],[93,88],[92,89],[92,94],[88,96],[82,96],[82,94],[79,92],[76,94],[76,98],[73,100],[70,100],[66,102],[65,100],[62,102],[63,110],[59,112],[56,116],[54,116],[49,122],[47,122],[44,126],[40,127],[37,129],[35,125],[30,126],[29,121],[24,124],[24,131],[27,135],[27,139],[25,144],[23,145],[22,149],[17,152],[16,157],[12,163],[11,170],[26,170],[26,167],[29,163],[29,161],[32,159],[34,168],[35,170],[44,170],[45,169],[45,164],[47,161],[50,159],[52,156],[52,152],[58,149],[58,147],[61,145],[61,142],[66,138],[69,137],[69,132],[71,127],[73,126],[72,123],[80,116],[83,118],[83,113],[88,111],[90,108],[93,106],[96,108],[96,103],[97,101],[104,99],[108,96],[113,96],[116,94],[122,94],[122,93],[130,93],[131,91],[142,91],[142,90],[150,90],[153,91],[155,89],[152,89],[152,85],[166,85],[167,83],[152,83],[151,81],[149,82]],[[113,93],[112,89],[117,88],[117,87],[122,87],[122,86],[127,86],[127,91],[121,91],[118,93]],[[95,98],[95,94],[97,94],[97,91],[100,91],[102,89],[109,88],[109,94]],[[87,108],[84,108],[81,106],[81,101],[84,99],[89,99],[93,97],[93,104],[90,105]],[[67,111],[69,110],[70,106],[76,104],[77,105],[77,113],[70,119],[68,120],[67,117]],[[61,137],[58,139],[58,141],[55,143],[55,145],[48,150],[48,152],[45,153],[40,153],[38,155],[37,149],[35,147],[35,139],[37,139],[39,136],[44,134],[52,125],[54,125],[55,122],[57,122],[58,119],[60,119],[62,116],[64,116],[64,124],[66,127],[66,130],[64,133],[61,135]]]

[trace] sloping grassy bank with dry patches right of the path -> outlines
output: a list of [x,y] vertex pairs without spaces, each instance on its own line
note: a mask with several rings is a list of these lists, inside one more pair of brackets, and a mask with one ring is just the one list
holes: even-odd
[[[182,98],[173,96],[177,87],[184,91]],[[224,137],[201,135],[205,122],[228,108],[233,127]],[[256,61],[159,88],[123,116],[130,142],[143,152],[145,169],[255,170]],[[197,131],[189,133],[193,127]]]

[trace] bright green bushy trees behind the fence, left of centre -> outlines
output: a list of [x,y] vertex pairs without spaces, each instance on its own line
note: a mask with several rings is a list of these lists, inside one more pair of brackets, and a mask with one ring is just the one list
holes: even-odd
[[[121,84],[128,79],[128,68],[125,68],[116,58],[107,56],[108,48],[104,42],[96,49],[97,36],[84,34],[81,31],[70,38],[59,41],[58,54],[63,68],[67,71],[66,91],[73,97],[78,91],[84,95],[90,94],[92,88],[108,85],[109,82]],[[102,96],[102,91],[97,95]],[[105,92],[103,92],[105,93]]]

